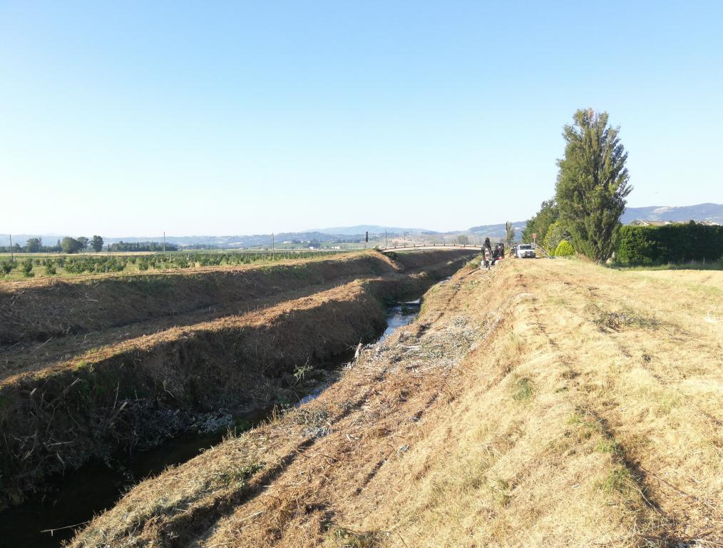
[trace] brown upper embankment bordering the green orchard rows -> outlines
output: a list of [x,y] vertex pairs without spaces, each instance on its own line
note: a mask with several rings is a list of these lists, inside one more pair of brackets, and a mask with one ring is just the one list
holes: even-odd
[[150,274],[0,280],[0,344],[43,342],[401,269],[369,251]]

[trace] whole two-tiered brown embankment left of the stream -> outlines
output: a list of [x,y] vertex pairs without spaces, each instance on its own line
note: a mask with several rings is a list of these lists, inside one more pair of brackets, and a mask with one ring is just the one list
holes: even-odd
[[[0,507],[155,439],[168,410],[268,405],[469,254],[380,253],[0,286]],[[292,377],[293,379],[293,377]],[[175,420],[175,418],[174,418]]]

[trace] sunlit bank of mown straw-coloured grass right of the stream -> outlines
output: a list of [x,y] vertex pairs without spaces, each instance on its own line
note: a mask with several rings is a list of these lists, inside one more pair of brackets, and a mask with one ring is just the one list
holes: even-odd
[[718,274],[466,267],[317,400],[145,481],[72,546],[721,546]]

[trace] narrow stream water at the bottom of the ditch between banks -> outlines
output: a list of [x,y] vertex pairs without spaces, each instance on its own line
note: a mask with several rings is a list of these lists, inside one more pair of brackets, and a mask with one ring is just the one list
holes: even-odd
[[[387,329],[380,341],[401,326],[414,321],[419,314],[419,299],[390,306]],[[317,368],[338,369],[351,354],[343,354]],[[314,400],[328,387],[321,384],[299,399],[296,405]],[[236,430],[257,426],[270,413],[269,408],[252,410],[234,416]],[[159,447],[124,455],[110,462],[88,463],[67,476],[56,479],[42,495],[30,497],[21,505],[0,513],[0,548],[56,548],[71,539],[74,526],[81,526],[93,515],[112,507],[127,489],[142,479],[155,476],[171,465],[185,463],[200,452],[221,443],[228,428],[208,434],[182,434]],[[122,465],[121,465],[122,462]],[[51,534],[51,530],[54,530]]]

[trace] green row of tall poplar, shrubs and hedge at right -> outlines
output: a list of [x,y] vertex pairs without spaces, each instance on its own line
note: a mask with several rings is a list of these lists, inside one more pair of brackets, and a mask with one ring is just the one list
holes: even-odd
[[723,227],[692,221],[662,227],[620,224],[632,187],[625,167],[628,153],[620,143],[620,129],[608,125],[607,112],[576,111],[562,137],[565,156],[557,161],[555,195],[527,221],[523,242],[536,235],[548,253],[581,253],[596,262],[615,256],[620,264],[704,259],[723,264]]

